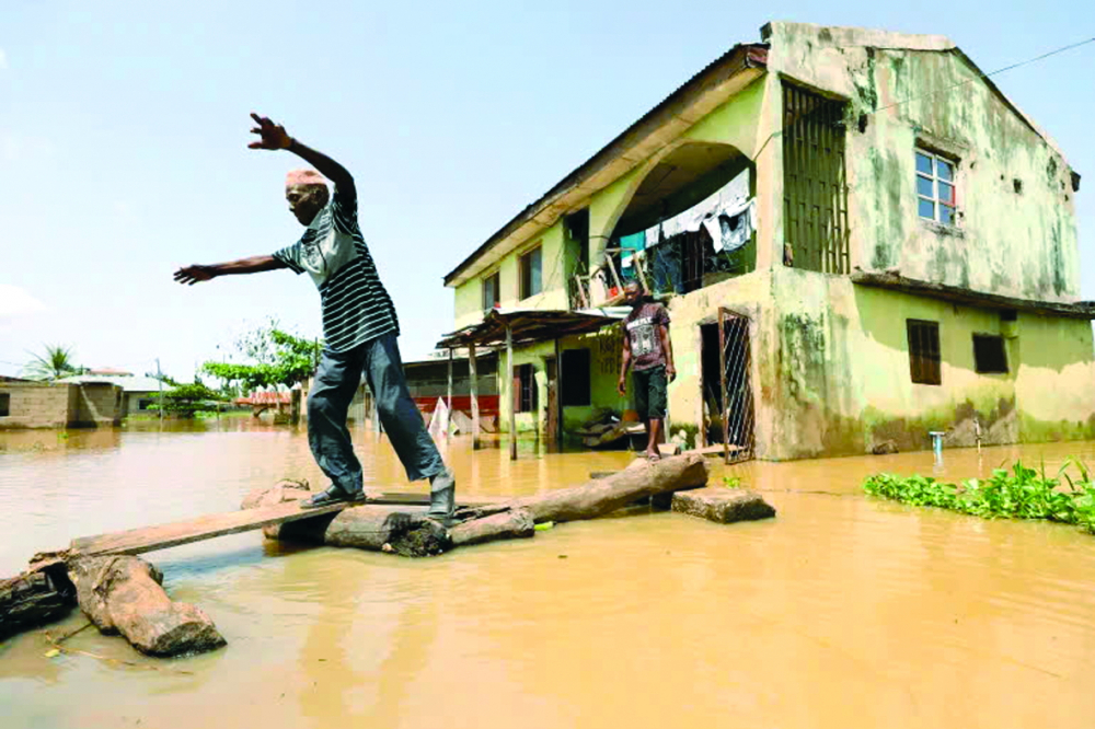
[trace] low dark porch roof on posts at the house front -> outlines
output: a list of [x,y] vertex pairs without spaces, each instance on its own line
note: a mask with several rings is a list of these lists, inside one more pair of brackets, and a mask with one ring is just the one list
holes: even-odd
[[623,317],[622,313],[618,314],[604,309],[581,311],[494,309],[481,323],[446,334],[437,346],[440,349],[469,345],[500,346],[506,344],[507,329],[510,331],[515,345],[551,342],[574,334],[597,332],[609,324],[615,324]]

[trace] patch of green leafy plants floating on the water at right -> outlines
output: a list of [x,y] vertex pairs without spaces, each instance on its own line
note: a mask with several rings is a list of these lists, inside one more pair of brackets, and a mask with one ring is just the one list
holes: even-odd
[[[1069,474],[1077,472],[1076,478]],[[1056,476],[1016,462],[996,468],[989,478],[970,478],[961,485],[930,476],[876,474],[863,484],[872,496],[910,506],[929,506],[984,519],[1045,519],[1076,524],[1095,534],[1095,483],[1087,467],[1067,460]]]

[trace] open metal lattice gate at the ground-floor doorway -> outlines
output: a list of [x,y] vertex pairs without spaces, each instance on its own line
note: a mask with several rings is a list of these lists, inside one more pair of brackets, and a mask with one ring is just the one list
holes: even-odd
[[723,456],[726,463],[753,458],[753,401],[749,377],[749,317],[718,310],[718,364],[722,377]]

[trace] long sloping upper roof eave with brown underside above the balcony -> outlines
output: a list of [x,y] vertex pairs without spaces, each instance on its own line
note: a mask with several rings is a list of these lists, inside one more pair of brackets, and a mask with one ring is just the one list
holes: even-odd
[[766,65],[766,44],[734,46],[540,199],[521,210],[449,271],[445,277],[445,285],[463,284],[525,241],[551,228],[562,216],[579,210],[593,193],[631,172],[719,104],[752,83],[764,73]]

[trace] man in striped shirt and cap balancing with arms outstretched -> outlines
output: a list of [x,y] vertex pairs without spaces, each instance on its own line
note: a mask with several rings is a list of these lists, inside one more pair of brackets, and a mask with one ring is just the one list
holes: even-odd
[[[395,340],[399,320],[357,224],[354,177],[331,158],[290,137],[285,127],[265,116],[251,117],[258,125],[251,130],[258,135],[249,144],[251,149],[288,150],[319,170],[295,170],[286,178],[289,211],[308,230],[299,241],[273,255],[187,266],[176,270],[174,278],[193,286],[233,274],[278,268],[308,271],[320,289],[325,340],[308,395],[308,443],[331,486],[306,499],[301,507],[365,500],[361,463],[346,428],[349,404],[364,371],[380,421],[407,478],[430,481],[427,516],[445,521],[456,507],[456,481],[407,391]],[[333,195],[328,196],[324,176],[334,184]]]

